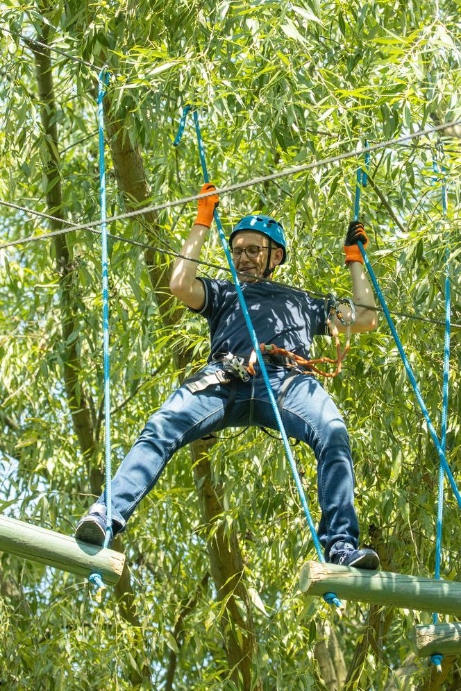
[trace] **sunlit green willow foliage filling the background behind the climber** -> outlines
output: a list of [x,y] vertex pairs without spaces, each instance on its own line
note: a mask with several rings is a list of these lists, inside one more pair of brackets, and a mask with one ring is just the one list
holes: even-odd
[[[162,203],[201,187],[192,122],[181,146],[171,146],[186,102],[199,108],[210,178],[219,186],[353,151],[364,139],[380,142],[456,119],[459,9],[458,2],[439,2],[436,16],[433,3],[424,0],[6,0],[0,42],[1,199],[47,212],[50,191],[51,154],[40,124],[33,55],[18,34],[31,40],[46,35],[64,53],[108,65],[110,123],[121,128],[126,142],[139,146],[150,201]],[[52,184],[59,180],[62,187],[62,206],[53,214],[74,223],[94,221],[99,218],[97,71],[60,53],[51,56],[60,162]],[[445,221],[433,156],[446,167]],[[226,194],[219,207],[225,228],[249,212],[276,215],[290,244],[289,261],[276,278],[308,291],[349,296],[342,241],[357,165],[351,154],[340,163]],[[361,215],[370,234],[369,256],[392,310],[444,320],[449,239],[452,314],[461,323],[460,165],[458,140],[437,135],[371,157],[374,186],[362,190]],[[112,215],[123,212],[126,202],[110,160],[107,167]],[[160,213],[160,248],[181,247],[194,204],[180,208]],[[0,224],[1,241],[49,230],[47,221],[4,206]],[[138,219],[117,221],[110,230],[147,238]],[[85,231],[67,234],[66,241],[76,323],[67,343],[60,328],[55,246],[41,241],[0,250],[0,506],[6,515],[69,533],[91,502],[90,472],[103,463],[103,371],[99,241]],[[161,253],[157,257],[166,265],[172,261]],[[210,234],[203,259],[224,266],[216,233]],[[117,465],[144,420],[183,376],[171,355],[192,348],[193,366],[199,366],[208,355],[208,335],[201,318],[187,312],[174,330],[165,327],[139,248],[115,241],[110,262]],[[168,309],[176,314],[174,300]],[[439,432],[443,326],[401,316],[395,321]],[[453,330],[447,436],[455,475],[461,438],[459,334],[459,328]],[[92,401],[93,457],[78,446],[63,383],[65,352],[72,344],[81,363],[77,391],[84,389]],[[328,339],[315,343],[316,353],[329,355],[332,348]],[[437,452],[383,318],[376,332],[355,336],[342,375],[326,387],[351,436],[362,542],[378,549],[388,570],[433,574]],[[313,454],[297,447],[296,458],[318,520]],[[423,688],[426,661],[409,665],[408,656],[412,626],[428,622],[429,614],[374,613],[368,648],[366,608],[350,602],[340,621],[297,589],[299,568],[313,545],[280,443],[251,429],[219,439],[210,460],[225,488],[216,529],[224,525],[229,535],[236,529],[244,556],[258,640],[251,665],[262,688],[334,688],[319,652],[325,631],[333,631],[330,640],[334,635],[344,658],[342,663],[335,658],[334,683],[343,674],[338,670],[349,668],[349,688]],[[114,597],[97,605],[87,584],[74,577],[0,556],[0,685],[133,688],[133,669],[141,674],[147,665],[151,676],[142,688],[171,688],[165,686],[166,669],[174,659],[172,688],[236,688],[219,629],[225,602],[216,598],[207,576],[206,539],[213,536],[201,523],[191,468],[186,448],[170,461],[129,524],[124,546],[139,626],[127,622]],[[442,577],[459,580],[459,507],[450,488],[445,498]],[[408,667],[406,681],[396,681],[399,667]],[[446,688],[459,688],[460,679],[455,664]]]

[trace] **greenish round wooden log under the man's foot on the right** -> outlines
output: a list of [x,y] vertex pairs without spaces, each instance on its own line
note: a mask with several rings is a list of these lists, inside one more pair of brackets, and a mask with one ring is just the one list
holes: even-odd
[[299,588],[306,595],[335,592],[337,597],[358,602],[461,615],[461,583],[455,581],[307,561],[301,568]]

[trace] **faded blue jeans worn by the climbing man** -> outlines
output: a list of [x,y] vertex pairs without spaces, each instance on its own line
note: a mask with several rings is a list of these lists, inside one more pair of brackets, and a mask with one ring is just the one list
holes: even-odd
[[[221,363],[201,370],[214,373]],[[238,380],[237,395],[223,424],[230,385],[216,384],[190,393],[187,382],[153,413],[112,479],[112,515],[115,532],[124,530],[137,504],[156,484],[171,456],[181,447],[224,427],[258,425],[278,429],[258,366],[249,382]],[[290,369],[267,364],[278,396]],[[349,435],[335,403],[312,375],[293,377],[283,402],[287,435],[312,448],[317,459],[321,520],[318,536],[328,559],[337,540],[358,547],[358,521],[353,506],[353,466]],[[105,511],[104,495],[93,511]]]

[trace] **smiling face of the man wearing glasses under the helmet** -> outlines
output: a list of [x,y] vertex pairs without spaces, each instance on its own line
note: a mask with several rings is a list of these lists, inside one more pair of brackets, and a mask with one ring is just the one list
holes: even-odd
[[[263,233],[255,232],[254,230],[242,230],[237,232],[232,241],[233,262],[235,268],[240,273],[239,278],[241,280],[249,283],[254,283],[258,280],[257,278],[246,278],[246,274],[253,274],[262,278],[267,264],[269,244],[271,244],[272,247],[269,268],[274,268],[274,266],[277,266],[282,261],[283,250],[274,245],[274,243],[271,243],[270,237],[267,237],[267,235]],[[258,248],[258,253],[256,256],[253,256],[256,252],[255,248]],[[242,254],[238,256],[240,250],[246,249],[249,250],[251,256],[246,252],[242,252]]]

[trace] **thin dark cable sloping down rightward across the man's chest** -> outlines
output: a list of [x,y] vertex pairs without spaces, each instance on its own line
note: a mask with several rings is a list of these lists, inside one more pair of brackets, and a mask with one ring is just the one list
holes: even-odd
[[[67,224],[74,226],[74,228],[76,228],[76,226],[77,226],[76,223],[72,223],[72,221],[66,221],[65,219],[60,219],[58,216],[51,216],[50,214],[44,214],[43,212],[37,211],[35,209],[29,209],[28,207],[19,206],[18,204],[13,204],[12,202],[3,201],[1,199],[0,199],[0,205],[6,206],[10,209],[15,209],[15,210],[20,211],[20,212],[24,212],[25,214],[29,214],[32,216],[39,216],[40,218],[47,219],[49,221],[59,221],[60,223],[67,223]],[[185,205],[183,205],[181,211],[178,214],[178,217],[174,221],[173,225],[171,225],[171,228],[169,229],[170,232],[173,232],[173,230],[176,227],[176,224],[178,223],[178,220],[179,220],[182,212],[184,211],[184,209],[185,209]],[[72,228],[70,230],[72,230]],[[101,230],[99,230],[99,228],[85,228],[85,230],[92,232],[94,235],[100,235],[101,234]],[[53,237],[54,234],[58,234],[58,233],[59,233],[59,231],[49,232],[46,234],[46,237],[47,238]],[[35,236],[33,236],[33,237],[35,237]],[[39,237],[39,236],[37,236],[37,237]],[[40,236],[40,237],[42,237],[42,236]],[[226,268],[226,266],[222,266],[221,264],[213,264],[213,262],[206,262],[204,259],[195,259],[194,257],[189,257],[188,255],[183,255],[180,252],[175,252],[172,248],[165,250],[165,248],[158,247],[156,245],[151,245],[151,244],[148,245],[144,242],[140,242],[138,240],[133,240],[129,237],[122,237],[121,235],[115,235],[115,234],[111,234],[111,233],[108,233],[108,238],[110,238],[111,240],[117,240],[119,242],[124,242],[126,244],[133,245],[135,247],[140,247],[140,248],[145,249],[145,250],[154,250],[155,252],[159,252],[160,254],[164,254],[164,255],[167,255],[169,257],[177,257],[179,259],[187,259],[188,262],[194,262],[194,264],[198,264],[201,266],[208,266],[208,268],[216,268],[219,271],[225,271],[226,273],[231,273],[230,268]],[[159,238],[159,240],[160,240],[160,238]],[[168,243],[165,240],[160,240],[160,241],[163,244],[167,245],[167,247],[169,247]],[[12,241],[12,242],[15,243],[16,241]],[[8,247],[8,246],[9,246],[8,243],[3,244],[3,245],[0,244],[0,250],[5,248],[5,247]],[[260,280],[262,282],[274,283],[274,284],[276,284],[278,286],[282,286],[284,288],[288,288],[291,290],[297,290],[297,291],[300,291],[302,293],[307,293],[308,295],[314,296],[317,298],[325,298],[326,297],[326,293],[319,293],[318,291],[315,291],[315,290],[300,288],[299,286],[294,286],[293,284],[287,283],[284,281],[274,281],[271,278],[260,278],[256,275],[248,275],[248,276],[249,276],[249,278],[258,278],[258,280]],[[377,307],[376,305],[374,307],[370,307],[369,305],[362,304],[362,302],[354,302],[353,304],[355,305],[355,307],[366,307],[367,309],[374,310],[374,312],[384,312],[382,307]],[[411,319],[412,321],[421,321],[421,322],[427,323],[427,324],[435,324],[437,326],[444,326],[445,325],[445,322],[442,321],[441,319],[432,319],[430,317],[421,317],[421,316],[417,316],[416,314],[410,314],[410,312],[399,312],[396,309],[392,309],[392,310],[389,309],[389,314],[392,314],[392,315],[398,316],[398,317],[402,317],[402,318],[406,318],[406,319]],[[461,329],[461,324],[451,323],[451,326],[453,328]]]

